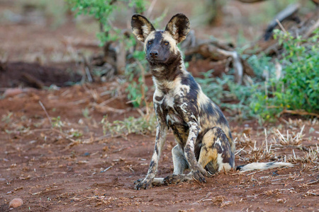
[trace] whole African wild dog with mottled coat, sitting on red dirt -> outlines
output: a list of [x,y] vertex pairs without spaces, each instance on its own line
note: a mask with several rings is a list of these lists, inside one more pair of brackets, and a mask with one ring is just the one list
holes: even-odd
[[[134,35],[145,43],[146,59],[156,87],[153,101],[158,122],[150,168],[144,179],[135,182],[135,189],[191,179],[206,182],[206,176],[234,168],[235,143],[228,122],[186,71],[177,47],[189,33],[189,19],[179,13],[169,20],[165,30],[155,30],[150,21],[140,15],[134,15],[131,24]],[[172,149],[174,172],[165,178],[155,178],[169,127],[177,141]],[[284,165],[289,163],[253,163],[239,169]],[[191,172],[183,175],[186,169]]]

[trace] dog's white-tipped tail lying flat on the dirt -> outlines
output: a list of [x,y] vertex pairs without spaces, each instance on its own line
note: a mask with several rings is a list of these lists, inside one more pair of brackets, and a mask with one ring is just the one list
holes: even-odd
[[269,170],[275,167],[292,167],[292,163],[284,163],[284,162],[270,162],[270,163],[250,163],[247,165],[240,165],[236,167],[236,170],[240,171],[252,171],[252,170]]

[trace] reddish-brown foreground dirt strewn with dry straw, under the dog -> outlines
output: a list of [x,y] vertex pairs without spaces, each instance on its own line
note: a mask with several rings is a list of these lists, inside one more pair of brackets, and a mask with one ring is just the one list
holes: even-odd
[[[262,172],[221,173],[208,178],[206,184],[181,183],[135,191],[133,182],[147,172],[155,136],[130,134],[94,141],[103,135],[99,124],[103,113],[94,110],[89,90],[102,93],[110,87],[106,83],[35,90],[0,101],[0,211],[9,211],[9,201],[15,197],[23,199],[24,204],[14,211],[318,210],[318,164],[310,163]],[[103,101],[109,97],[101,98]],[[63,133],[50,128],[39,100],[50,117],[61,117]],[[111,105],[130,109],[119,102]],[[89,108],[91,118],[84,117],[84,108]],[[108,113],[110,119],[117,119],[118,114],[112,113]],[[131,114],[126,112],[124,116]],[[244,123],[250,125],[251,131],[244,124],[232,123],[234,136],[239,139],[243,132],[250,133],[260,146],[263,129],[252,123]],[[303,146],[315,148],[318,124],[299,124],[306,124]],[[311,134],[310,127],[315,129]],[[82,131],[83,136],[73,138],[77,140],[74,142],[67,139],[65,135],[71,129]],[[159,176],[172,173],[172,146],[170,133],[159,162]],[[292,150],[296,155],[306,154],[293,146],[273,148],[277,157],[289,158]],[[250,158],[245,153],[238,155]],[[240,157],[236,158],[237,165],[245,163]]]

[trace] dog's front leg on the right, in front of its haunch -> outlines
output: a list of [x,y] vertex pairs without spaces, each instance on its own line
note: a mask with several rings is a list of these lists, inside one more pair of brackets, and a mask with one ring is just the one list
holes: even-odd
[[196,122],[189,123],[189,137],[184,147],[184,153],[191,169],[191,173],[189,173],[190,177],[193,177],[198,182],[206,182],[205,176],[208,176],[208,173],[198,164],[194,153],[194,144],[196,143],[199,131],[200,127]]

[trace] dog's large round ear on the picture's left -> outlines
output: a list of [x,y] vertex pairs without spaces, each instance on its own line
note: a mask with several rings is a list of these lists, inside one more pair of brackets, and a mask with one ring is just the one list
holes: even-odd
[[144,42],[145,38],[155,30],[152,23],[150,23],[147,18],[138,14],[132,16],[130,24],[132,25],[133,34],[142,42]]

